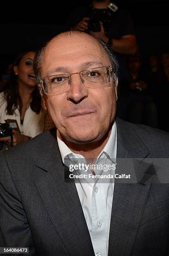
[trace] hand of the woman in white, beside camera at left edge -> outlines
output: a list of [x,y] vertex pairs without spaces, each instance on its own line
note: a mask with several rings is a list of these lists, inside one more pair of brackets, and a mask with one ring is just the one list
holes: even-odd
[[[30,138],[26,135],[21,134],[20,132],[13,129],[13,146],[16,146],[24,141],[28,141]],[[0,138],[0,141],[6,141],[8,146],[10,146],[10,136]]]

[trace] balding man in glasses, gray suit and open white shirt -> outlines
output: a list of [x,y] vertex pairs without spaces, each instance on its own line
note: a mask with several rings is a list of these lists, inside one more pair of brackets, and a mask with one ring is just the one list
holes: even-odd
[[[117,68],[106,44],[77,31],[59,34],[36,55],[57,131],[0,155],[1,247],[40,256],[167,255],[169,185],[154,182],[150,168],[138,174],[145,159],[169,158],[169,135],[115,118]],[[137,170],[127,159],[141,159]],[[82,173],[80,166],[93,163],[102,168]],[[108,165],[112,177],[102,182]]]

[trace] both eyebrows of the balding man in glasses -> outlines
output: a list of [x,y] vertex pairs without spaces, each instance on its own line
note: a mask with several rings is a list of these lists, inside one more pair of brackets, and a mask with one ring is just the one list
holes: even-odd
[[[103,62],[101,62],[101,61],[86,61],[83,64],[81,64],[82,69],[93,68],[93,66],[102,67],[104,65],[103,65]],[[55,67],[53,69],[50,69],[45,76],[46,77],[51,76],[51,75],[53,75],[53,73],[56,73],[56,72],[60,72],[60,74],[63,74],[63,72],[68,73],[67,70],[68,70],[67,67]],[[81,71],[81,70],[79,70],[79,71]]]

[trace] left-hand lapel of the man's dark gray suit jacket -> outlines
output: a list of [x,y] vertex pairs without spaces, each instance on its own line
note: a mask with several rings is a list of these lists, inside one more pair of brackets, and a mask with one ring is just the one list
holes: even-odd
[[72,256],[94,255],[76,185],[64,182],[57,139],[50,138],[45,148],[48,154],[43,150],[36,161],[34,183],[50,220]]

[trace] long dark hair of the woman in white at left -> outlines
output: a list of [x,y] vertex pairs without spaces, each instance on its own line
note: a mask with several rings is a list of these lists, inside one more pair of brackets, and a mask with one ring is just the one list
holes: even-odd
[[[18,66],[22,57],[30,51],[35,51],[35,50],[27,50],[27,51],[21,52],[15,59],[13,67]],[[5,100],[7,101],[7,108],[6,108],[7,114],[13,115],[17,108],[21,112],[23,108],[23,102],[19,95],[18,77],[15,75],[13,68],[11,69],[10,79],[6,81],[5,84],[3,85],[3,92],[4,92]],[[38,86],[36,86],[32,92],[32,100],[30,102],[30,108],[37,114],[40,113],[41,97],[38,90]]]

